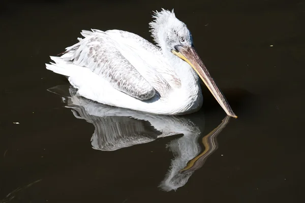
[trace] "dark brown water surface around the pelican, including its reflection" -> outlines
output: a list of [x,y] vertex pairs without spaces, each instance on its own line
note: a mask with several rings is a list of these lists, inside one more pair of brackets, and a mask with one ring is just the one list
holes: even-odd
[[[0,202],[303,202],[302,1],[0,7]],[[99,106],[45,69],[81,29],[151,41],[151,11],[161,8],[188,25],[238,119],[225,118],[206,89],[204,107],[188,116]],[[47,91],[54,86],[64,99]]]

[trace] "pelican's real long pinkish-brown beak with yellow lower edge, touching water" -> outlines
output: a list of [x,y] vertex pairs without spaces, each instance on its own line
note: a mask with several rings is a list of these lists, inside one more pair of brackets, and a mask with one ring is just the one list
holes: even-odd
[[220,106],[225,110],[227,115],[237,118],[237,116],[232,111],[230,105],[228,104],[227,99],[221,92],[221,90],[218,88],[217,84],[213,80],[213,78],[210,76],[208,70],[206,69],[205,65],[203,64],[202,60],[198,56],[195,48],[192,47],[184,47],[184,46],[175,46],[175,50],[172,50],[172,53],[181,58],[182,60],[185,60],[187,63],[189,63],[193,69],[196,71],[196,73],[199,75],[201,80],[204,82],[204,84],[207,86],[207,88],[210,90],[210,92],[213,94],[213,96],[216,98]]

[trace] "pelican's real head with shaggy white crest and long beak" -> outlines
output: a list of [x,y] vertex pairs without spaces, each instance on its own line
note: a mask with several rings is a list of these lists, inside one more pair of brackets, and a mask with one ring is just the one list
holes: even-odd
[[237,116],[233,113],[227,99],[218,88],[215,81],[210,76],[208,70],[198,56],[190,30],[187,25],[178,20],[172,12],[162,9],[161,12],[155,12],[154,21],[150,22],[151,36],[161,49],[169,51],[176,57],[186,61],[196,71],[204,84],[214,95],[220,106],[225,112],[234,118]]

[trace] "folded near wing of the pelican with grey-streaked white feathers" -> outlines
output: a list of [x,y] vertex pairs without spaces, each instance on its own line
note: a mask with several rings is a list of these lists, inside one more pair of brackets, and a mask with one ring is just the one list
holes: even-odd
[[105,32],[83,31],[82,35],[85,38],[68,47],[62,58],[88,67],[115,89],[133,97],[149,99],[155,95],[154,87],[118,51],[116,43]]

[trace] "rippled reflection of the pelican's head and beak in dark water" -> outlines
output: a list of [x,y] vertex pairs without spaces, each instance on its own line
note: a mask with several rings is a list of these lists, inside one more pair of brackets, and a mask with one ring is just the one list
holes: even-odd
[[202,153],[200,153],[201,147],[197,142],[199,134],[185,135],[168,144],[168,148],[173,152],[175,158],[172,159],[170,170],[160,184],[162,190],[176,190],[188,182],[193,173],[202,167],[207,157],[217,150],[216,138],[228,124],[229,119],[230,117],[226,116],[219,126],[202,138],[201,142],[204,146]]

